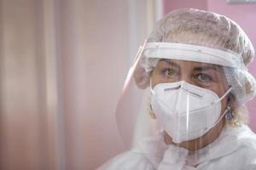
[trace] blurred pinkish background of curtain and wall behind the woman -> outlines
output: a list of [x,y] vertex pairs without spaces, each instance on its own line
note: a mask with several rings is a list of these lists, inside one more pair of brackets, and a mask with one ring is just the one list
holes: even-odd
[[[256,47],[256,3],[0,0],[0,169],[93,170],[122,152],[114,111],[131,60],[185,7],[236,20]],[[248,108],[256,132],[255,99]]]

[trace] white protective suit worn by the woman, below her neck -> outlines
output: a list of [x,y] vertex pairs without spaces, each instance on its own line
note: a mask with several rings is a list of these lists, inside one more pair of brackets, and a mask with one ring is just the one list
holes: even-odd
[[139,148],[114,157],[97,170],[256,170],[256,135],[246,125],[224,127],[210,148],[194,154],[188,152],[166,145],[163,133],[159,133],[143,139]]

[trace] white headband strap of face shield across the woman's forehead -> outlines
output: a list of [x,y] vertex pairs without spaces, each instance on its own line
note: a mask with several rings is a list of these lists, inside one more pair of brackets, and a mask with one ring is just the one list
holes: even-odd
[[180,59],[241,69],[241,55],[232,51],[172,42],[148,42],[143,53],[147,58]]

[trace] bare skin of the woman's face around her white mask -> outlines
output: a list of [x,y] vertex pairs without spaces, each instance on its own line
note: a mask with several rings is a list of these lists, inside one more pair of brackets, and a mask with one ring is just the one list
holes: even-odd
[[[151,75],[152,88],[158,83],[179,81],[188,82],[195,86],[211,90],[215,94],[218,94],[219,98],[229,89],[224,71],[219,65],[176,59],[160,59]],[[227,98],[221,100],[221,115],[224,113],[228,102],[229,100]],[[224,119],[218,122],[215,127],[212,127],[204,136],[177,145],[189,150],[199,150],[207,144],[212,143],[214,139],[217,139],[223,127]],[[172,143],[172,137],[167,133],[165,133],[165,140],[167,144]]]

